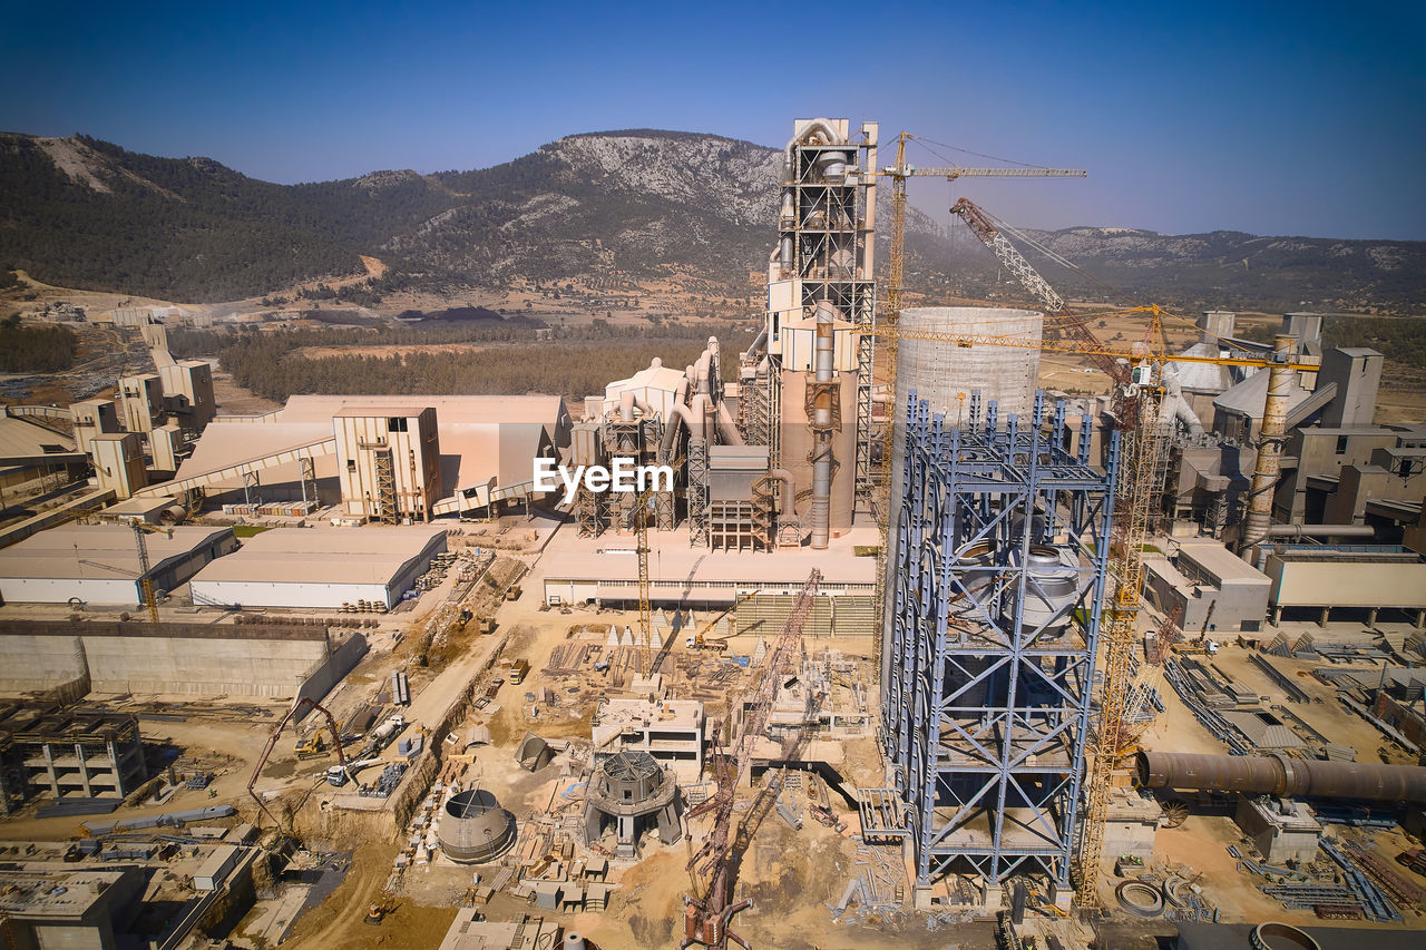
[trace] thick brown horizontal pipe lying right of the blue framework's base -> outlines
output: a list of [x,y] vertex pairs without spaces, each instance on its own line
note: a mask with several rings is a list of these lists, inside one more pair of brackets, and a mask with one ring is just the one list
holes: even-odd
[[1422,766],[1186,752],[1139,752],[1137,765],[1139,785],[1145,789],[1426,803],[1426,767]]

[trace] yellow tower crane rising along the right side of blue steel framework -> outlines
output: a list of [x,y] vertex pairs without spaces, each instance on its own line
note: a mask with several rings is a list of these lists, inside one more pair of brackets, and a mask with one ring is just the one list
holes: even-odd
[[[873,332],[891,338],[937,339],[961,347],[997,345],[1081,354],[1089,357],[1114,382],[1112,415],[1115,428],[1122,432],[1118,479],[1114,489],[1114,536],[1109,551],[1109,575],[1114,581],[1114,589],[1099,638],[1104,649],[1104,663],[1099,665],[1099,669],[1104,678],[1099,693],[1099,716],[1094,733],[1094,755],[1089,763],[1091,772],[1085,782],[1087,800],[1075,873],[1077,899],[1082,906],[1087,906],[1097,900],[1104,826],[1109,807],[1109,776],[1124,760],[1124,756],[1134,750],[1134,735],[1125,729],[1124,719],[1131,690],[1129,653],[1144,592],[1144,541],[1148,535],[1149,512],[1156,491],[1155,481],[1165,449],[1164,431],[1159,425],[1164,388],[1156,369],[1166,361],[1268,368],[1272,374],[1269,389],[1278,392],[1285,391],[1288,377],[1292,372],[1310,371],[1316,367],[1293,362],[1291,351],[1282,339],[1268,358],[1246,351],[1229,352],[1222,357],[1169,355],[1162,332],[1162,318],[1169,314],[1158,305],[1102,311],[1104,314],[1148,314],[1149,317],[1144,342],[1131,349],[1109,348],[1085,327],[1085,318],[1097,314],[1074,314],[1024,255],[995,228],[984,211],[961,198],[951,208],[951,213],[961,217],[1001,264],[1040,298],[1048,317],[1060,318],[1057,325],[1065,331],[1068,339],[1047,341],[1010,335],[904,331],[896,324],[881,325]],[[1272,436],[1268,419],[1265,419],[1263,431],[1266,441]],[[1258,489],[1256,478],[1253,488]],[[1269,499],[1271,486],[1259,494],[1263,499]]]

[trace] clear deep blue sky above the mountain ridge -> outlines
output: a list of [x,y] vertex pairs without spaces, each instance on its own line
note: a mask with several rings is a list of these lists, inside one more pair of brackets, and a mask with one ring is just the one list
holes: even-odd
[[1089,171],[914,183],[941,223],[964,195],[1021,227],[1426,240],[1426,4],[1406,0],[0,10],[0,130],[268,181],[482,168],[615,128],[781,147],[826,116],[914,133],[913,164]]

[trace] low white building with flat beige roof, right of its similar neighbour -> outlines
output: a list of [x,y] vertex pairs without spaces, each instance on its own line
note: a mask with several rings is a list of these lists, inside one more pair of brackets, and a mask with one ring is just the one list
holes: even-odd
[[445,529],[424,525],[274,528],[210,563],[190,589],[195,605],[392,608],[445,549]]

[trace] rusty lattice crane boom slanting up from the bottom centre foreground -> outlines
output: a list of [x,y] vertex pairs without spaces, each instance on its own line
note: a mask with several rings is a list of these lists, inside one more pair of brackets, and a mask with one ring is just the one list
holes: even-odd
[[740,853],[734,847],[733,803],[737,799],[737,789],[752,775],[753,740],[767,727],[777,685],[790,669],[793,655],[797,652],[801,629],[811,613],[819,583],[821,583],[821,572],[813,569],[797,595],[791,615],[767,655],[761,673],[753,682],[750,692],[740,698],[744,713],[737,733],[719,757],[717,792],[689,810],[690,819],[712,812],[713,829],[703,847],[689,859],[689,872],[694,874],[694,883],[697,884],[699,877],[702,877],[704,886],[696,887],[702,893],[684,897],[684,930],[683,940],[679,943],[680,950],[693,944],[702,944],[709,950],[723,950],[729,940],[740,947],[749,946],[729,927],[729,921],[736,913],[752,907],[750,900],[733,900],[733,884],[740,860]]

